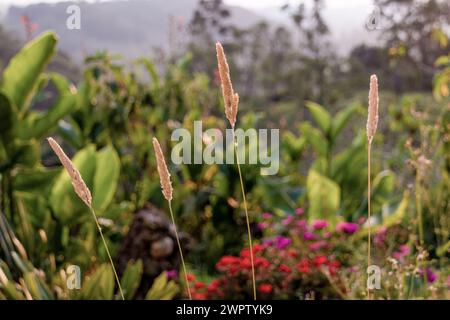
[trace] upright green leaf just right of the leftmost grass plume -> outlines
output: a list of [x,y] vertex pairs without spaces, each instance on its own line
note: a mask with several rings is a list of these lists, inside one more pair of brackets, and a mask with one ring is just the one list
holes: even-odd
[[101,214],[109,205],[117,189],[120,159],[113,146],[97,152],[92,206]]

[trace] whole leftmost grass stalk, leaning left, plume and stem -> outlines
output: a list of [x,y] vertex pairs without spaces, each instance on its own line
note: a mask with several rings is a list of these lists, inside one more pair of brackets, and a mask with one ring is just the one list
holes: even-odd
[[114,267],[114,262],[111,257],[111,253],[109,252],[108,245],[106,243],[106,239],[103,236],[102,228],[100,224],[98,223],[97,215],[95,214],[94,208],[92,207],[92,196],[89,188],[87,187],[86,183],[84,182],[83,178],[81,177],[80,172],[76,169],[72,161],[69,159],[69,157],[66,155],[66,153],[63,151],[61,146],[53,139],[53,138],[47,138],[48,143],[50,144],[50,147],[53,149],[57,157],[59,158],[59,161],[61,161],[62,165],[66,169],[67,173],[70,176],[70,179],[72,181],[73,188],[75,190],[75,193],[80,197],[80,199],[88,206],[89,211],[92,214],[92,217],[94,218],[95,225],[97,226],[98,232],[100,233],[100,237],[102,238],[103,245],[105,247],[106,253],[109,258],[109,262],[111,264],[114,277],[116,278],[117,286],[119,288],[120,296],[122,300],[125,300],[125,296],[123,295],[122,286],[120,285],[119,276],[117,275],[116,268]]

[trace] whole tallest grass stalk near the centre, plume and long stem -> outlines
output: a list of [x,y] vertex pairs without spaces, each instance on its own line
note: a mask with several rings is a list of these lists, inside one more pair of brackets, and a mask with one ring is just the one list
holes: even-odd
[[242,200],[244,202],[244,211],[245,211],[245,220],[247,223],[247,234],[248,234],[248,243],[250,247],[250,263],[252,265],[252,285],[253,285],[253,299],[256,300],[256,276],[255,276],[255,263],[253,258],[253,243],[252,243],[252,233],[250,229],[250,218],[248,215],[248,207],[247,207],[247,199],[245,197],[245,189],[244,189],[244,181],[242,179],[242,170],[239,161],[239,152],[238,152],[238,143],[236,140],[234,127],[236,124],[236,117],[239,106],[239,95],[234,92],[233,84],[230,78],[230,68],[228,66],[227,58],[225,56],[225,52],[223,50],[222,45],[217,42],[216,43],[216,52],[217,52],[217,66],[219,69],[220,82],[222,84],[222,95],[225,104],[225,115],[230,122],[232,131],[233,131],[233,145],[234,152],[236,153],[236,162],[239,172],[239,181],[241,183],[241,192],[242,192]]

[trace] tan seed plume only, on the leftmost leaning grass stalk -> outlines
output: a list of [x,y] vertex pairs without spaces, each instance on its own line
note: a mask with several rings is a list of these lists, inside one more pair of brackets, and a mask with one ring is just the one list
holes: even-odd
[[75,193],[80,197],[81,200],[88,206],[92,207],[92,196],[89,188],[84,183],[83,178],[81,177],[80,172],[75,168],[72,161],[69,157],[64,153],[61,146],[56,142],[53,138],[47,138],[50,147],[52,147],[55,154],[58,156],[59,161],[61,161],[62,165],[66,169],[67,173],[72,180],[72,185],[75,190]]

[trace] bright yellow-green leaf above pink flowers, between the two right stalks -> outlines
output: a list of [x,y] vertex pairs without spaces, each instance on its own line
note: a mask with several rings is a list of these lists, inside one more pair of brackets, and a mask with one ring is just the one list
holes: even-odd
[[340,206],[339,186],[327,177],[310,170],[306,181],[310,219],[336,220]]

